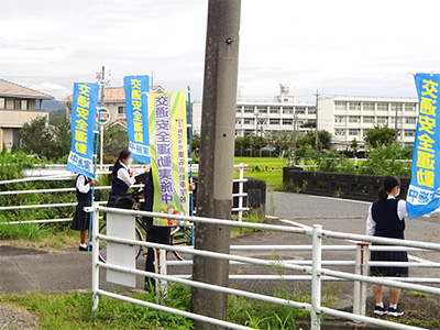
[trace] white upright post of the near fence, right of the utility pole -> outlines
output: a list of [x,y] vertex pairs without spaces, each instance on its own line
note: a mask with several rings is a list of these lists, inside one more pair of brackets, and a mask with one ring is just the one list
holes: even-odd
[[322,226],[315,224],[312,232],[311,254],[311,330],[321,329],[321,260],[322,260]]

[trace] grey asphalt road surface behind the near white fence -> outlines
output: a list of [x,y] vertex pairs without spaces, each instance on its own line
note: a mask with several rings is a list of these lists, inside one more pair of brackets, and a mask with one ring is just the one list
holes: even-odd
[[[327,197],[316,197],[286,193],[270,193],[267,199],[267,212],[293,221],[277,222],[285,226],[312,226],[320,223],[324,229],[344,232],[364,233],[365,218],[369,204],[333,199]],[[276,221],[276,220],[274,220]],[[407,221],[407,239],[440,242],[440,218],[419,218]],[[1,242],[0,242],[1,244]],[[310,244],[310,238],[260,232],[243,235],[232,242],[232,244]],[[336,240],[326,240],[324,244],[349,244]],[[262,258],[274,257],[272,252],[240,252],[243,255],[252,255]],[[284,252],[279,253],[283,258],[309,260],[310,252]],[[427,258],[440,262],[439,253],[414,253],[415,257]],[[28,290],[40,290],[46,293],[57,293],[76,289],[89,289],[91,287],[91,256],[87,253],[79,253],[76,250],[66,250],[59,253],[46,253],[32,249],[16,249],[12,246],[0,246],[0,295],[8,293],[23,293]],[[353,252],[326,252],[327,260],[354,260]],[[139,263],[143,268],[143,262]],[[339,270],[341,270],[339,267]],[[352,271],[352,267],[345,267]],[[177,270],[170,268],[169,273],[189,274],[190,267]],[[234,266],[232,273],[235,274],[274,274],[275,270],[254,266]],[[294,274],[286,272],[285,274]],[[413,276],[430,274],[439,276],[438,270],[411,270]],[[112,286],[106,284],[102,272],[101,279],[105,288]],[[263,283],[255,280],[235,282],[234,286],[252,287],[258,292],[271,292],[279,285],[277,282]],[[307,285],[297,283],[287,284],[292,288],[307,289]],[[142,279],[139,279],[139,287],[142,287]],[[327,284],[327,288],[340,294],[341,304],[350,304],[352,298],[352,284],[341,286],[341,284]],[[344,306],[341,306],[344,307]]]

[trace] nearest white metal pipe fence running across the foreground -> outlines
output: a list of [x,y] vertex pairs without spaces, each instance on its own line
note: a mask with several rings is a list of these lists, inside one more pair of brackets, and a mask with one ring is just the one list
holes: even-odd
[[[321,284],[322,284],[322,280],[324,277],[338,278],[340,280],[354,282],[355,283],[354,295],[358,295],[359,297],[362,295],[361,292],[365,290],[366,284],[380,284],[380,285],[385,285],[385,286],[391,286],[391,287],[397,287],[397,288],[403,288],[403,289],[440,295],[440,288],[438,288],[438,287],[414,284],[414,283],[406,283],[406,282],[404,282],[405,280],[404,278],[382,278],[382,277],[367,276],[366,264],[363,263],[362,260],[356,258],[356,261],[355,261],[356,271],[354,274],[341,272],[341,271],[334,271],[334,270],[324,267],[327,264],[324,261],[322,261],[322,251],[331,249],[329,246],[322,245],[322,240],[328,239],[328,238],[329,239],[339,239],[339,240],[356,240],[360,242],[364,242],[363,245],[359,245],[359,246],[367,246],[367,243],[375,243],[375,244],[383,244],[383,245],[387,245],[387,246],[396,245],[397,248],[393,248],[393,250],[396,250],[396,249],[397,250],[424,249],[427,251],[436,251],[436,252],[440,251],[440,244],[438,244],[438,243],[419,242],[419,241],[403,241],[403,240],[395,240],[395,239],[384,239],[384,238],[366,237],[366,235],[344,233],[344,232],[336,232],[336,231],[323,230],[321,228],[321,226],[314,226],[312,228],[295,228],[295,227],[288,227],[288,226],[237,222],[237,221],[211,219],[211,218],[170,216],[170,215],[163,215],[163,213],[112,209],[112,208],[100,207],[97,204],[94,205],[92,208],[90,208],[90,211],[94,211],[94,224],[92,226],[94,226],[94,245],[95,246],[94,246],[94,254],[92,254],[92,264],[94,264],[92,265],[92,270],[94,270],[92,290],[94,290],[94,309],[95,310],[98,308],[99,296],[108,296],[111,298],[121,299],[124,301],[130,301],[133,304],[146,306],[150,308],[180,315],[180,316],[194,319],[194,320],[200,320],[200,321],[218,324],[221,327],[227,327],[230,329],[251,329],[249,327],[244,327],[241,324],[234,324],[234,323],[226,322],[223,320],[218,320],[218,319],[209,318],[206,316],[196,315],[194,312],[186,312],[186,311],[173,309],[173,308],[169,308],[166,306],[162,306],[160,304],[145,302],[145,301],[142,301],[139,299],[125,297],[123,295],[106,292],[106,290],[101,289],[100,285],[99,285],[99,271],[101,268],[111,270],[111,271],[121,272],[121,273],[134,274],[134,275],[139,275],[139,276],[150,276],[150,277],[156,278],[158,280],[180,283],[184,285],[198,287],[198,288],[202,288],[202,289],[216,290],[216,292],[221,292],[221,293],[237,295],[240,297],[246,297],[246,298],[252,298],[252,299],[260,299],[263,301],[279,304],[279,305],[284,305],[284,306],[292,306],[293,308],[301,308],[301,309],[310,311],[312,330],[320,329],[322,315],[329,315],[329,316],[343,318],[343,319],[348,319],[348,320],[352,320],[352,321],[356,321],[356,322],[365,322],[367,324],[375,324],[375,326],[381,326],[381,327],[385,327],[385,328],[389,328],[389,329],[404,329],[404,330],[421,329],[421,328],[411,327],[411,326],[407,326],[407,324],[403,324],[403,323],[396,323],[396,322],[392,322],[392,321],[387,321],[387,320],[366,317],[366,316],[362,315],[362,309],[364,308],[364,306],[362,306],[362,305],[359,305],[358,307],[355,307],[355,308],[358,308],[358,310],[354,310],[354,312],[341,311],[341,310],[337,310],[333,308],[322,306],[321,305],[321,296],[322,296]],[[308,235],[308,237],[312,238],[312,245],[311,245],[312,258],[311,258],[310,263],[297,264],[297,263],[289,263],[289,262],[284,262],[284,261],[268,261],[268,260],[260,260],[260,258],[249,257],[249,256],[224,254],[224,253],[217,253],[217,252],[210,252],[210,251],[201,251],[201,250],[195,250],[193,248],[185,248],[185,246],[170,246],[170,245],[163,245],[163,244],[156,244],[156,243],[151,243],[151,242],[140,242],[140,241],[134,241],[134,240],[121,239],[118,237],[105,235],[105,234],[100,234],[98,232],[99,211],[105,211],[105,212],[110,212],[110,213],[116,213],[116,215],[131,216],[132,217],[131,221],[134,221],[135,216],[157,217],[157,218],[170,218],[170,219],[183,220],[183,221],[193,221],[196,223],[196,226],[197,226],[197,223],[210,223],[210,224],[253,228],[253,229],[275,231],[275,232],[287,232],[287,233],[292,233],[292,234]],[[116,265],[116,264],[108,264],[108,263],[105,264],[99,261],[99,252],[98,251],[99,251],[100,240],[117,243],[117,244],[153,248],[156,250],[165,250],[165,251],[176,251],[179,253],[188,253],[191,255],[200,255],[200,256],[205,256],[205,257],[228,260],[230,262],[238,262],[238,263],[245,263],[245,264],[253,264],[253,265],[261,265],[261,266],[270,266],[270,267],[276,266],[276,267],[283,267],[285,270],[307,273],[307,274],[309,274],[309,277],[307,279],[311,279],[311,304],[280,299],[280,298],[275,298],[275,297],[271,297],[267,295],[260,295],[260,294],[249,293],[249,292],[244,292],[244,290],[240,290],[240,289],[232,289],[229,287],[206,284],[206,283],[201,283],[201,282],[183,278],[182,276],[178,277],[178,276],[155,274],[155,273],[144,272],[144,271],[124,267],[124,266]],[[278,246],[278,249],[282,249],[282,248]],[[298,248],[298,249],[300,249],[300,248]],[[308,246],[304,248],[304,245],[302,245],[302,249],[309,249],[309,248]],[[334,249],[345,249],[345,248],[334,248]],[[355,248],[355,249],[360,249],[360,248]],[[386,248],[375,246],[374,249],[386,249]],[[387,265],[392,265],[392,263],[387,263]],[[438,265],[436,265],[436,266],[438,266]],[[358,294],[356,294],[356,290],[358,290]],[[361,298],[359,300],[361,301]]]

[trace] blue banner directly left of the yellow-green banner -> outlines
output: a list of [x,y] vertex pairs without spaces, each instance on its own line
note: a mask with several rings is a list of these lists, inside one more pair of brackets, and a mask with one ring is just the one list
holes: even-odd
[[148,76],[124,77],[127,133],[133,160],[150,164]]

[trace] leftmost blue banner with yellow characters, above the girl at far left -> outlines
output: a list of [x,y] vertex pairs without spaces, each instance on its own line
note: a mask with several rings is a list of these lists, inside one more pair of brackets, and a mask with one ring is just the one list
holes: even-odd
[[95,178],[94,142],[99,86],[75,82],[72,101],[72,148],[67,170]]

